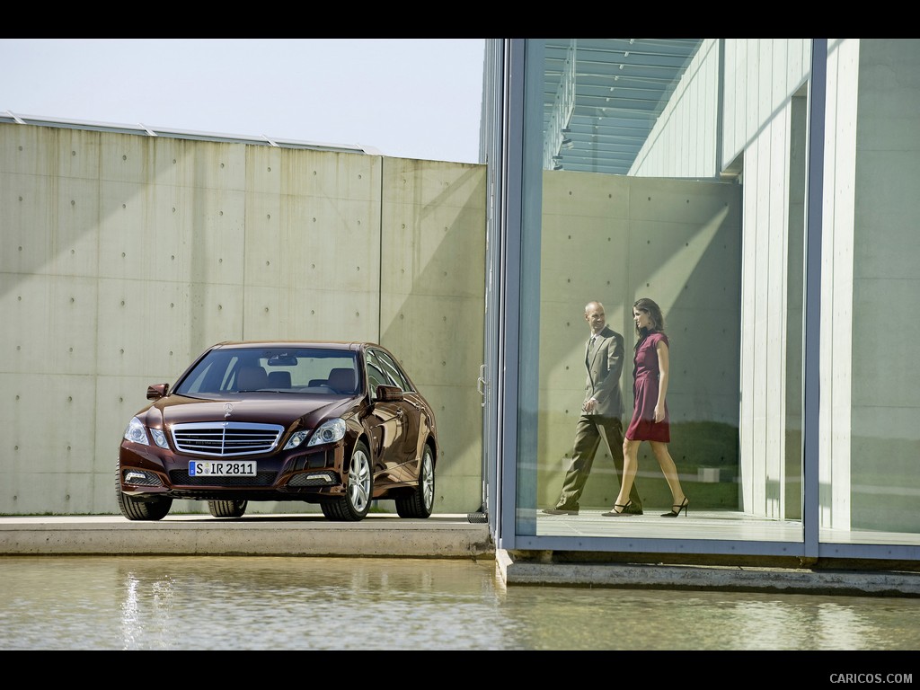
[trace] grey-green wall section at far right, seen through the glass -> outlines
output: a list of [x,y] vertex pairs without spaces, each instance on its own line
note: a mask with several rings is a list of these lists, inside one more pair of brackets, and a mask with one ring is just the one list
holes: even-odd
[[[840,355],[851,377],[848,519],[854,528],[920,532],[920,40],[854,41],[841,42],[842,59],[858,58],[847,83],[857,93],[852,262],[849,274],[847,266],[835,269],[834,282],[834,299],[852,295],[852,351]],[[838,129],[851,126],[838,121]],[[843,323],[834,330],[847,332]],[[833,462],[836,472],[836,455]]]

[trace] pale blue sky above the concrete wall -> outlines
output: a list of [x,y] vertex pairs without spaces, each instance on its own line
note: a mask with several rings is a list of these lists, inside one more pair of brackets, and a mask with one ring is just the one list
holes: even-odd
[[484,39],[0,39],[0,112],[477,163]]

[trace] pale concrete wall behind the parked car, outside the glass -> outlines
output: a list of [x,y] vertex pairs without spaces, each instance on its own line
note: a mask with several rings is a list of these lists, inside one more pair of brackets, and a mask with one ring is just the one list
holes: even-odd
[[439,415],[435,512],[477,510],[485,202],[484,166],[0,123],[0,513],[118,512],[146,386],[260,338],[395,351]]

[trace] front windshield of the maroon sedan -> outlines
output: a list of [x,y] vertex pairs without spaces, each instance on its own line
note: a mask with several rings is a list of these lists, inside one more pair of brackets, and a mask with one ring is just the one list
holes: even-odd
[[319,348],[228,348],[208,354],[176,385],[184,396],[253,391],[350,395],[356,354]]

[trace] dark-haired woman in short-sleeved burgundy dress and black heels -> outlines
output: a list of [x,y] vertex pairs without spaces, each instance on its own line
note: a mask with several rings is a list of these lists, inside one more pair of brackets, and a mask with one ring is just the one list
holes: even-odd
[[668,453],[671,442],[671,422],[668,419],[668,406],[665,396],[668,393],[668,337],[664,335],[664,316],[661,308],[647,297],[633,305],[633,321],[636,323],[636,354],[633,357],[633,416],[623,441],[623,481],[620,493],[616,497],[610,512],[602,512],[606,517],[629,515],[629,490],[638,469],[638,446],[648,441],[651,452],[655,454],[661,473],[671,489],[671,512],[661,517],[677,517],[684,511],[690,500],[684,496],[681,481],[677,478],[677,467]]

